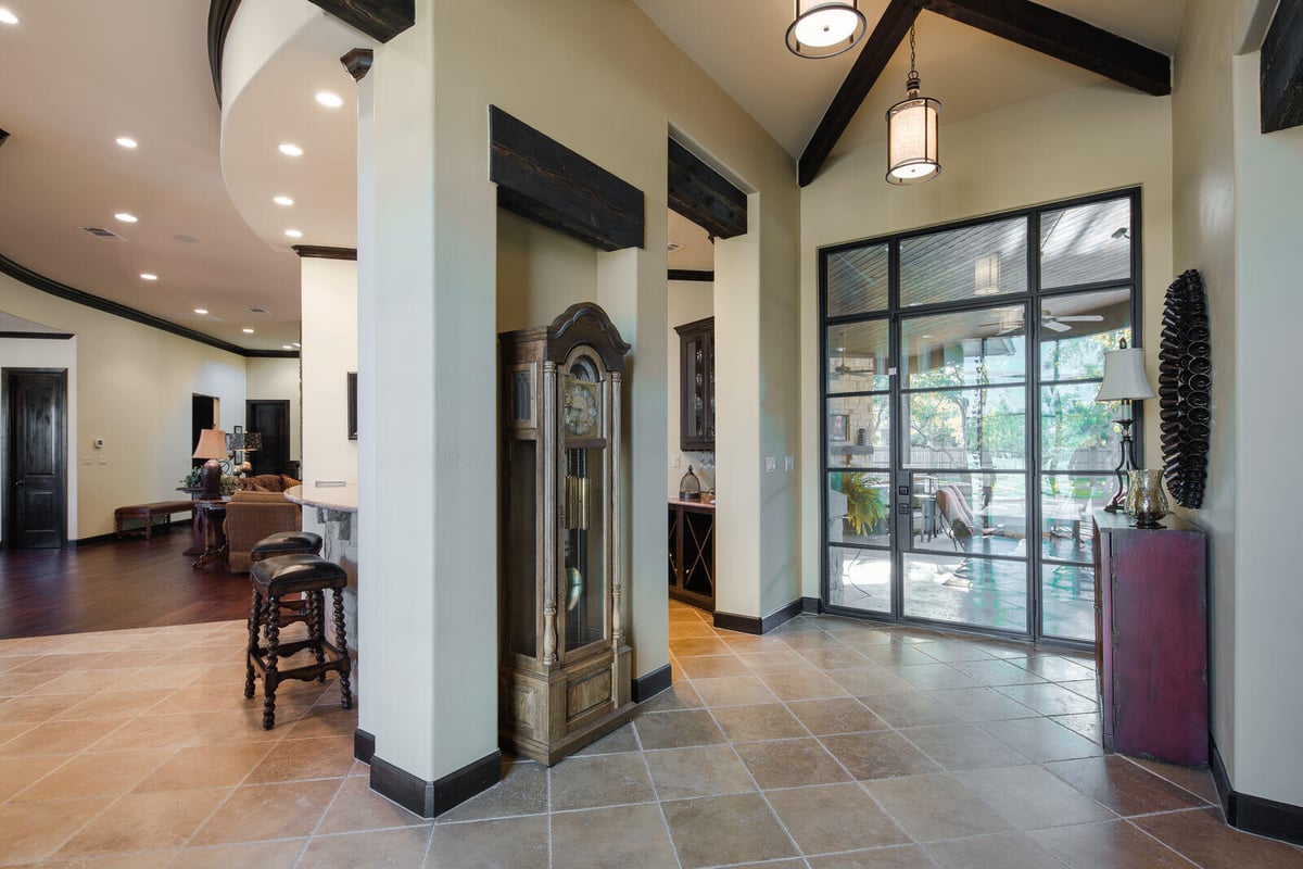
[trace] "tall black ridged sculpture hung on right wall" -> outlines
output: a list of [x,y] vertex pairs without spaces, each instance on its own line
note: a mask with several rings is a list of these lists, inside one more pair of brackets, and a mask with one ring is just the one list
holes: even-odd
[[1204,280],[1194,268],[1167,288],[1158,349],[1158,406],[1167,491],[1182,507],[1204,503],[1212,420],[1212,347]]

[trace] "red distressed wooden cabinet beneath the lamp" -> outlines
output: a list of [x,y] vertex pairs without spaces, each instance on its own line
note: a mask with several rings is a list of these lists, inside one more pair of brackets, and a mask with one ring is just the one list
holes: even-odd
[[1104,747],[1208,762],[1208,542],[1175,516],[1095,513],[1095,655]]

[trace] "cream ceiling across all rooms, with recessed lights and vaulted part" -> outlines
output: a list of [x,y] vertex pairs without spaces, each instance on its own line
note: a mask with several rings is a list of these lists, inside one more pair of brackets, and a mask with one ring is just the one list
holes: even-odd
[[[1042,1],[1169,53],[1184,9],[1184,0]],[[855,60],[853,51],[831,60],[792,56],[783,43],[790,0],[635,3],[794,158]],[[298,259],[289,245],[356,244],[354,90],[337,57],[341,44],[365,40],[322,16],[232,107],[223,145],[205,42],[208,0],[0,5],[20,18],[0,25],[0,128],[10,133],[0,147],[0,254],[244,348],[297,341]],[[886,0],[861,0],[861,8],[872,27]],[[924,91],[943,102],[947,120],[1100,81],[930,13],[919,20],[917,61]],[[838,151],[882,137],[882,115],[903,96],[907,66],[906,47]],[[345,106],[317,106],[311,96],[323,87]],[[120,149],[119,135],[139,147]],[[301,162],[275,152],[287,138],[305,149]],[[271,205],[278,193],[292,195],[294,208]],[[117,211],[139,223],[119,223]],[[711,268],[705,233],[685,223],[671,218],[670,240],[684,248],[670,266]],[[125,241],[95,238],[81,227],[103,227]],[[285,238],[288,227],[304,237]],[[146,283],[141,272],[159,280]],[[255,332],[245,335],[245,327]]]

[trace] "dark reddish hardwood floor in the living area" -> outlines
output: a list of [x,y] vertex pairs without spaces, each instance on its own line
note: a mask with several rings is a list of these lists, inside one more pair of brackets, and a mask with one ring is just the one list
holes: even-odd
[[249,575],[190,569],[189,522],[152,539],[0,550],[0,638],[249,616]]

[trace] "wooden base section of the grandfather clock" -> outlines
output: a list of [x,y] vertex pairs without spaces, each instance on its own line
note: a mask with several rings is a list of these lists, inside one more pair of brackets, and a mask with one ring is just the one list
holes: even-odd
[[624,724],[631,697],[629,648],[538,672],[502,671],[503,747],[551,766]]

